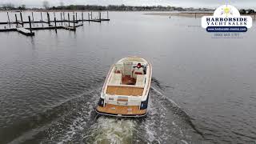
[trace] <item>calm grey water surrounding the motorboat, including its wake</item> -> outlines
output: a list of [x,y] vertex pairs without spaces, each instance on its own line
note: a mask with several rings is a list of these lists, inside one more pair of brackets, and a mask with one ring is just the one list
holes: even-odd
[[[0,143],[256,142],[255,25],[225,39],[207,34],[200,18],[110,19],[75,33],[0,33]],[[131,55],[153,64],[149,114],[97,117],[107,71]]]

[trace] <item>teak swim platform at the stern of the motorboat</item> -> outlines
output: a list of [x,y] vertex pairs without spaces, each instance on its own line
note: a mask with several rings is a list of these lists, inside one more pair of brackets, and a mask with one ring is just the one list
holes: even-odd
[[125,114],[125,115],[142,115],[146,114],[146,110],[139,110],[139,106],[117,106],[106,104],[105,107],[98,106],[97,110],[108,114]]

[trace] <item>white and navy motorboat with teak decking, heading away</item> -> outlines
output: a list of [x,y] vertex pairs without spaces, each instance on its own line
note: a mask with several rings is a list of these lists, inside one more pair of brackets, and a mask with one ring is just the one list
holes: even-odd
[[147,114],[152,66],[143,58],[122,58],[106,76],[98,114],[142,117]]

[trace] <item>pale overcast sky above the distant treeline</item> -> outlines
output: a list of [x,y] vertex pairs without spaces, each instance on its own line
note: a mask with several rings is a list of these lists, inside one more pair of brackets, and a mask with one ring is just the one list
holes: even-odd
[[[0,4],[11,2],[16,6],[42,6],[44,0],[0,0]],[[238,8],[256,8],[256,0],[48,0],[50,6],[58,6],[60,2],[65,5],[129,5],[129,6],[182,6],[182,7],[210,7],[215,8],[229,3]]]

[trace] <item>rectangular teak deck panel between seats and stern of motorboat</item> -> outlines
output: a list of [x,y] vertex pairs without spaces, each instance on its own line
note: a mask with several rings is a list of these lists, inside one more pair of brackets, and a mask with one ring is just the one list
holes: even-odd
[[107,86],[106,94],[142,96],[143,90],[143,88],[139,87]]

